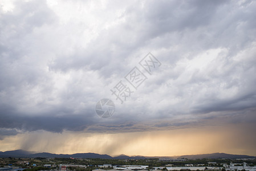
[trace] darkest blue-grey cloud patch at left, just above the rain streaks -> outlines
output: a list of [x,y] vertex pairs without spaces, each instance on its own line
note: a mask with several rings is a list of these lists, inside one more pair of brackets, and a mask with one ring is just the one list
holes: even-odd
[[[71,109],[56,107],[51,109],[51,113],[40,113],[39,116],[27,116],[26,113],[17,113],[18,111],[11,107],[1,107],[1,128],[19,129],[22,131],[46,130],[51,132],[82,131],[92,123],[83,115],[76,115]],[[2,133],[2,132],[0,132]]]

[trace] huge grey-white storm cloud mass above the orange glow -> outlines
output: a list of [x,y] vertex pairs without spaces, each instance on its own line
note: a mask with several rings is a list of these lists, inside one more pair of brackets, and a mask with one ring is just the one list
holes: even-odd
[[[255,107],[254,1],[88,3],[1,8],[0,135],[175,129]],[[100,119],[96,101],[149,51],[159,71]]]

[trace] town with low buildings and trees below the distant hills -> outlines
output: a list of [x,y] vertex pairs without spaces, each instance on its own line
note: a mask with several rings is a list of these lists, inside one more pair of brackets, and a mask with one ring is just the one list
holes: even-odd
[[0,158],[1,171],[121,171],[121,170],[256,170],[254,158]]

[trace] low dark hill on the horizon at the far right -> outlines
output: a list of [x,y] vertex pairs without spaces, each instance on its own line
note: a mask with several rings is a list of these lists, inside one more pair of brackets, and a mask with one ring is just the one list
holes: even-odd
[[196,154],[196,155],[185,155],[178,158],[188,159],[202,159],[202,158],[256,158],[255,156],[237,155],[237,154],[226,154],[226,153],[212,153],[212,154]]

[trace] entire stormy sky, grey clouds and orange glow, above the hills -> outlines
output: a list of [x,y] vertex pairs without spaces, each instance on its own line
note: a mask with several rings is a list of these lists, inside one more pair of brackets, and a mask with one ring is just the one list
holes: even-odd
[[[0,1],[0,150],[256,156],[255,9]],[[125,79],[135,67],[147,78],[136,88]],[[111,92],[120,81],[123,103]],[[115,104],[111,117],[97,115],[100,99]]]

